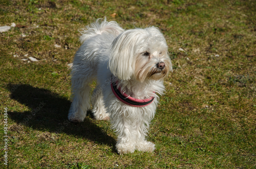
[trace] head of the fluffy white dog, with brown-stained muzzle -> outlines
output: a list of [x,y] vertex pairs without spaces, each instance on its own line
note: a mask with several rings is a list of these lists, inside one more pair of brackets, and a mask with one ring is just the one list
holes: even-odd
[[172,70],[167,44],[156,27],[131,29],[112,42],[109,68],[122,80],[159,80]]

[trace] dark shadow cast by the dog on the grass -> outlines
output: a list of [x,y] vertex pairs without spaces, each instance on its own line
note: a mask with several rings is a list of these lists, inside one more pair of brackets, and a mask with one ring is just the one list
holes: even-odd
[[[31,110],[22,111],[19,106],[13,106],[17,111],[8,111],[8,117],[16,123],[26,125],[34,130],[65,132],[68,135],[87,138],[97,144],[113,147],[115,139],[97,126],[94,123],[96,120],[86,117],[82,123],[68,121],[67,115],[71,103],[66,98],[47,89],[27,84],[8,84],[7,89],[11,92],[11,99]],[[8,105],[6,106],[8,107]],[[113,149],[113,151],[115,150]]]

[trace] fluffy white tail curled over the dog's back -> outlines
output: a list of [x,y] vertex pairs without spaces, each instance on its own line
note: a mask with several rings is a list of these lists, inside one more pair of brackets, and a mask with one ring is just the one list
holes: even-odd
[[86,29],[81,29],[81,31],[79,31],[82,34],[79,41],[83,43],[85,40],[94,37],[97,34],[102,34],[103,32],[117,36],[123,31],[124,29],[121,28],[116,21],[108,22],[106,21],[106,18],[97,19],[91,25],[86,26]]

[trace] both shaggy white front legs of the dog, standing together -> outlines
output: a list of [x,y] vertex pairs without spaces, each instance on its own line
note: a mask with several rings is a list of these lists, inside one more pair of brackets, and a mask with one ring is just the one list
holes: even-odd
[[116,150],[119,154],[133,153],[135,149],[143,152],[155,150],[155,144],[145,139],[150,118],[143,114],[142,112],[125,112],[123,108],[122,112],[111,116],[112,128],[118,137]]

